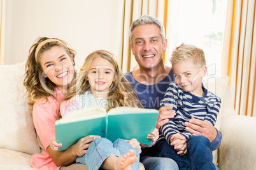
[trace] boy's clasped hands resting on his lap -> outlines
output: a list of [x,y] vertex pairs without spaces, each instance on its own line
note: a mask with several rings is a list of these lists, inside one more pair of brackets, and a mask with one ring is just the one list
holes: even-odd
[[187,140],[180,133],[173,134],[170,139],[171,145],[177,150],[178,155],[187,154]]

